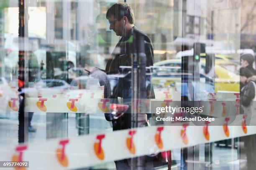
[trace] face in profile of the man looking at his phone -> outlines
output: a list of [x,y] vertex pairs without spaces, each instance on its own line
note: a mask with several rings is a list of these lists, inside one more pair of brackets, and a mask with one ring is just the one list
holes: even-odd
[[115,19],[114,15],[111,15],[108,18],[108,22],[110,23],[110,26],[109,26],[110,30],[113,30],[115,34],[118,36],[123,35],[125,25],[122,19],[118,21],[118,19]]

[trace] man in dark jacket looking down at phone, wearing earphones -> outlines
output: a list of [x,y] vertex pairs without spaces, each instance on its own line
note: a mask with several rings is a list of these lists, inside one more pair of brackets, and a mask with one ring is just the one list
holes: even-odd
[[[110,60],[108,60],[105,71],[95,68],[92,70],[92,77],[96,77],[100,81],[100,85],[104,85],[104,98],[110,98],[117,100],[118,97],[123,98],[123,100],[132,102],[132,88],[131,84],[131,66],[134,67],[134,63],[138,65],[138,68],[145,70],[144,77],[138,79],[139,88],[138,93],[140,93],[138,98],[150,99],[154,98],[154,90],[151,86],[151,69],[153,66],[153,45],[150,38],[138,30],[134,26],[134,13],[131,7],[126,3],[116,3],[111,6],[107,13],[106,18],[110,23],[110,30],[113,30],[116,35],[120,36],[118,44],[115,46],[111,54]],[[133,62],[132,58],[134,55],[138,57],[138,62]],[[120,66],[125,67],[125,69],[120,69]],[[148,74],[146,74],[146,72]],[[142,75],[142,73],[140,72]],[[112,75],[127,75],[126,78],[117,79],[115,87],[113,86]],[[149,75],[149,76],[146,76]],[[139,75],[140,76],[140,75]],[[112,76],[113,77],[113,76]],[[111,82],[111,83],[110,83]],[[145,95],[143,95],[145,94]],[[105,114],[108,121],[112,121],[113,130],[123,130],[132,128],[131,120],[131,105],[124,115],[115,120],[110,120],[108,116],[111,113]],[[147,114],[139,113],[137,125],[138,127],[143,126],[147,123]],[[140,158],[136,166],[140,167],[138,169],[144,168],[143,157]],[[129,169],[129,160],[115,161],[117,169]]]

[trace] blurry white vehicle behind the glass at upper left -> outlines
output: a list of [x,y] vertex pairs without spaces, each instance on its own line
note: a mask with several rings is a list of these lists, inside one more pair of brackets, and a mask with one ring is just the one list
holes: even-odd
[[[26,39],[25,39],[26,40]],[[43,69],[46,70],[46,52],[51,53],[55,58],[58,57],[58,62],[61,60],[67,60],[68,63],[72,63],[72,65],[76,66],[77,63],[77,45],[73,42],[68,41],[68,50],[62,47],[60,48],[58,45],[56,47],[47,44],[46,38],[38,35],[29,34],[28,35],[28,49],[19,49],[19,37],[16,34],[5,33],[5,42],[4,42],[4,65],[5,72],[17,74],[18,70],[18,51],[26,50],[30,53],[33,53],[36,57],[33,59],[38,63],[38,67],[43,64]],[[63,43],[63,42],[59,42]],[[65,42],[66,43],[66,42]],[[66,54],[67,51],[67,54]],[[67,57],[68,56],[68,57]],[[15,72],[15,73],[14,73]]]

